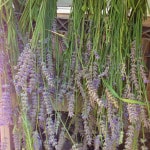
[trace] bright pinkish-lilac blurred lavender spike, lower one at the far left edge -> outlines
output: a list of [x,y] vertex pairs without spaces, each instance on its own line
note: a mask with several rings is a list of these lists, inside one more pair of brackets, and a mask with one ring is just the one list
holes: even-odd
[[12,124],[12,103],[10,86],[2,85],[2,99],[0,100],[0,126]]

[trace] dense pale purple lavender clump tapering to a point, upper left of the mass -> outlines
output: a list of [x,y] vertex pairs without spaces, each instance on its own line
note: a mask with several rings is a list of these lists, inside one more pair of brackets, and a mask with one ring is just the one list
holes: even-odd
[[[36,55],[31,50],[30,43],[26,44],[23,52],[21,53],[17,66],[15,67],[17,73],[14,79],[14,85],[16,92],[20,94],[21,90],[32,92],[35,88],[35,67],[36,67]],[[28,86],[28,79],[30,84]],[[33,84],[33,85],[32,85]]]

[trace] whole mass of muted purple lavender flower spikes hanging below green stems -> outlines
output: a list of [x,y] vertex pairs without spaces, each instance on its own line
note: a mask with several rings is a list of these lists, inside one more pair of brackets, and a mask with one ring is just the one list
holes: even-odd
[[[136,100],[138,97],[138,100],[141,100],[141,97],[138,96],[140,93],[137,91],[140,87],[137,80],[137,66],[134,52],[135,47],[133,46],[131,50],[131,71],[129,75],[127,75],[125,64],[122,64],[120,77],[125,78],[125,80],[123,80],[125,83],[125,85],[123,85],[125,89],[123,98]],[[99,147],[102,147],[104,150],[111,148],[116,149],[119,144],[123,143],[122,140],[120,142],[120,139],[123,139],[121,133],[123,132],[124,122],[121,122],[123,121],[123,118],[119,116],[119,112],[121,112],[119,100],[113,95],[108,87],[105,87],[100,91],[102,79],[107,80],[109,78],[111,58],[110,56],[106,58],[106,67],[103,72],[99,72],[99,57],[97,55],[98,54],[95,54],[95,61],[89,68],[82,68],[79,66],[78,71],[74,72],[77,56],[76,53],[73,52],[71,58],[70,79],[68,83],[64,83],[65,69],[62,71],[62,78],[60,77],[59,79],[60,82],[55,80],[52,54],[47,52],[46,61],[43,62],[39,53],[33,51],[30,44],[26,45],[23,53],[19,57],[18,65],[16,66],[17,72],[14,84],[16,92],[21,98],[22,110],[27,111],[28,117],[31,118],[33,138],[35,139],[34,145],[37,146],[36,142],[38,142],[38,144],[42,143],[40,145],[45,145],[45,149],[52,149],[53,147],[56,150],[60,150],[63,147],[66,140],[66,132],[64,129],[61,129],[60,131],[62,124],[59,119],[61,118],[55,118],[56,115],[54,117],[54,112],[57,110],[55,110],[55,107],[53,108],[53,106],[55,106],[57,100],[60,103],[63,103],[64,99],[67,99],[68,116],[71,121],[73,119],[76,120],[78,118],[75,112],[76,101],[78,101],[79,97],[82,100],[82,109],[80,112],[81,119],[78,124],[82,125],[83,132],[80,132],[81,129],[79,129],[75,123],[75,133],[72,134],[72,138],[77,144],[74,144],[72,149],[80,149],[81,147],[90,147],[93,145],[95,150],[98,150]],[[64,68],[65,65],[66,64],[64,64]],[[140,69],[142,79],[146,80],[144,68],[141,66]],[[130,81],[135,87],[137,95],[133,94],[134,90],[131,88]],[[60,83],[58,89],[55,85],[56,82]],[[77,97],[77,95],[80,96]],[[125,104],[125,107],[129,123],[126,133],[127,139],[125,142],[125,149],[130,149],[133,146],[133,141],[130,139],[134,138],[136,122],[139,122],[139,124],[142,122],[147,128],[149,127],[149,123],[147,123],[148,118],[146,118],[144,106]],[[94,113],[95,109],[97,110],[96,114]],[[63,112],[60,112],[60,114],[63,116]],[[141,115],[141,117],[144,116],[146,119],[142,118],[140,122],[139,115]],[[97,129],[92,128],[91,116],[93,118],[95,116],[100,117],[100,120],[97,117],[97,120],[95,119],[95,121],[93,121],[93,124]],[[43,137],[41,137],[37,129],[35,130],[37,126],[44,130],[42,134],[47,137],[45,142],[41,141]],[[84,136],[84,140],[81,141],[82,146],[79,146],[80,143],[78,143],[78,139],[76,138],[77,134]],[[63,136],[64,139],[60,136]],[[14,136],[14,140],[17,140],[16,136]],[[128,140],[130,140],[130,142],[128,142]]]

